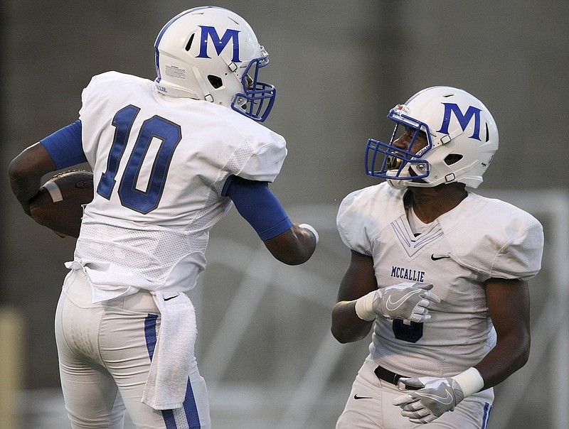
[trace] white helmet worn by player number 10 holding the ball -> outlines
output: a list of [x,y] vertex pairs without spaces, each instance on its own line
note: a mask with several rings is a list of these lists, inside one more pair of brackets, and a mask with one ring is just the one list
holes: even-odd
[[249,24],[215,6],[174,16],[156,38],[156,86],[163,94],[206,100],[265,121],[275,87],[257,80],[269,63]]

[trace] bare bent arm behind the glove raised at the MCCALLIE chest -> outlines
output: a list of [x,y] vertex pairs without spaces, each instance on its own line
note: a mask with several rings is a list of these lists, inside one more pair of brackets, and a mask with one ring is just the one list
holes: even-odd
[[340,283],[336,305],[332,310],[332,335],[341,343],[354,342],[368,335],[372,321],[362,320],[356,314],[356,300],[377,290],[373,259],[351,253],[350,265]]

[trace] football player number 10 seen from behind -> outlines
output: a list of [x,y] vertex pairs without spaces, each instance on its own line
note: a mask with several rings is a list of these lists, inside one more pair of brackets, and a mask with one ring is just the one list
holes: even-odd
[[186,293],[206,267],[210,229],[232,204],[276,259],[307,261],[318,241],[272,194],[285,139],[260,124],[275,87],[267,51],[240,16],[179,13],[159,32],[157,77],[105,72],[83,90],[78,121],[26,148],[9,168],[29,200],[53,170],[88,161],[86,205],[55,333],[73,428],[210,428],[193,357]]

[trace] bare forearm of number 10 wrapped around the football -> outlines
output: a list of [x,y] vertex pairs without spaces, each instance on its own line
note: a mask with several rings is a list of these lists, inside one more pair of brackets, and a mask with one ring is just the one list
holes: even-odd
[[55,163],[41,143],[29,146],[11,161],[10,187],[28,216],[31,198],[38,193],[43,176],[51,171],[55,171]]

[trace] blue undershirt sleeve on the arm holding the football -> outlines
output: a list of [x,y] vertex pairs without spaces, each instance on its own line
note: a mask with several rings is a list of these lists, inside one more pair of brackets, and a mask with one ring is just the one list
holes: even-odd
[[55,131],[42,139],[40,143],[53,158],[57,170],[87,162],[87,157],[83,152],[80,120]]

